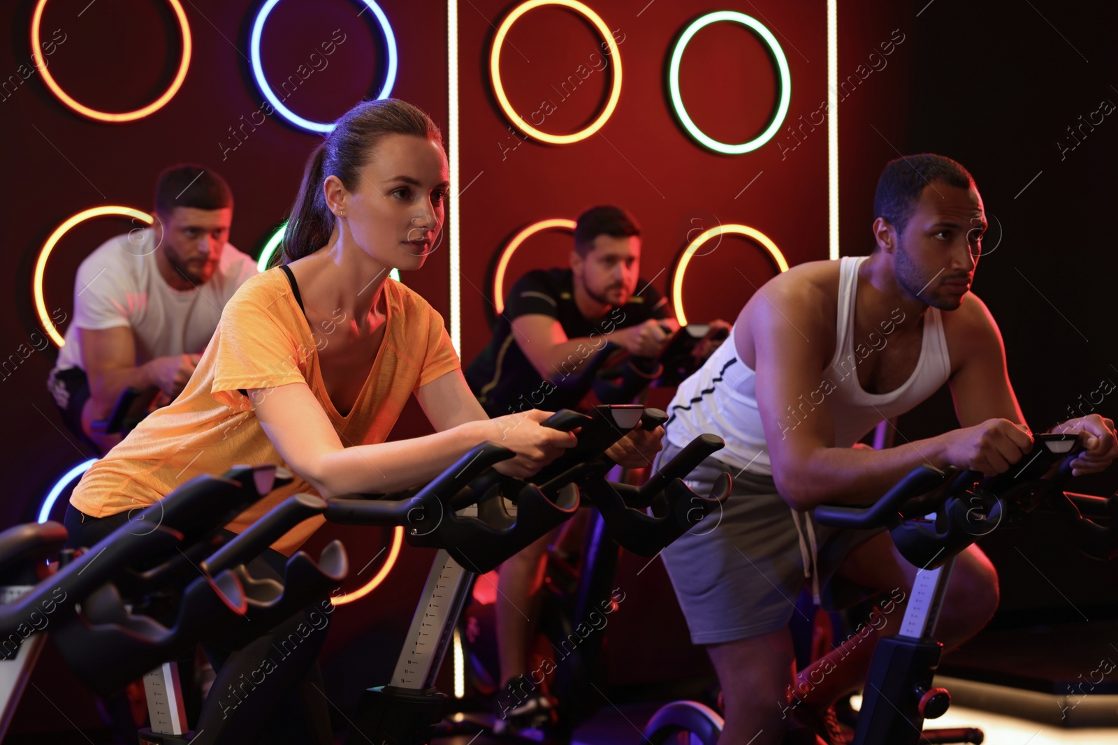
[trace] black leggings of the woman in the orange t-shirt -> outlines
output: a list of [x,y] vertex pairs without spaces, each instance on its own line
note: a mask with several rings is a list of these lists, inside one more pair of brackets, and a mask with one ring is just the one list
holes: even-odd
[[[127,513],[97,518],[67,506],[70,547],[92,546],[127,522]],[[226,537],[233,533],[224,531]],[[287,557],[266,548],[248,563],[258,579],[283,580]],[[325,609],[325,610],[324,610]],[[318,657],[330,613],[323,599],[238,650],[202,644],[217,672],[195,727],[196,745],[332,745],[326,688]]]

